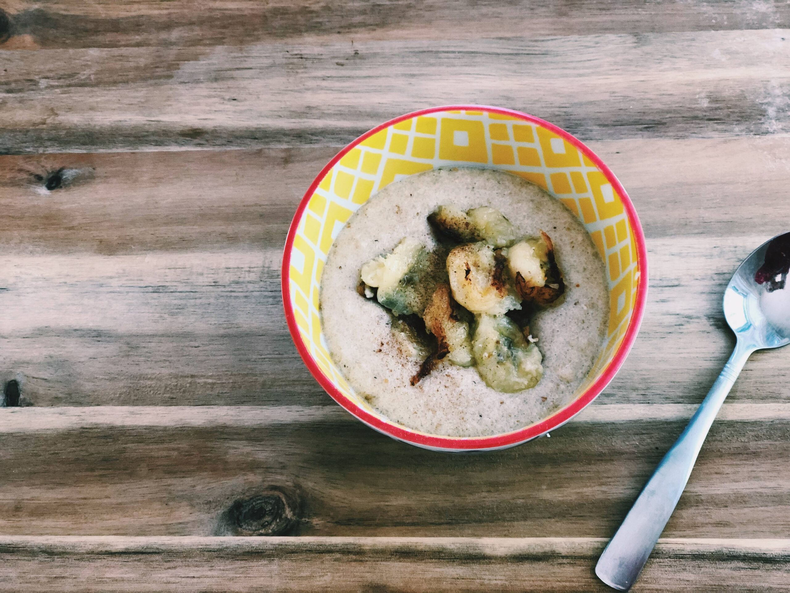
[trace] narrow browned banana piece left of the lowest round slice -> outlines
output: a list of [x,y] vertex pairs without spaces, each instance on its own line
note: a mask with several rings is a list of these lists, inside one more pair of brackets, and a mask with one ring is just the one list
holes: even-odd
[[473,363],[469,324],[461,319],[457,309],[457,303],[450,296],[450,286],[440,284],[425,308],[423,321],[426,329],[436,336],[438,351],[446,351],[453,364],[468,367]]

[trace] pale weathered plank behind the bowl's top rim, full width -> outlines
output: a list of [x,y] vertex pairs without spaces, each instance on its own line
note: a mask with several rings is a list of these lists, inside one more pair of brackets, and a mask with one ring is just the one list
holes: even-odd
[[7,51],[0,153],[337,145],[395,115],[458,102],[528,111],[587,140],[773,134],[790,130],[788,38]]

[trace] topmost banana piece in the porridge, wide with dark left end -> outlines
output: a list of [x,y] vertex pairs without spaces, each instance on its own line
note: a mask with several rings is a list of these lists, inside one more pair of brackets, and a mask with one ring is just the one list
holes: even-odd
[[517,239],[516,229],[510,221],[490,206],[466,212],[455,206],[438,206],[428,215],[428,222],[457,243],[485,241],[494,247],[506,247]]

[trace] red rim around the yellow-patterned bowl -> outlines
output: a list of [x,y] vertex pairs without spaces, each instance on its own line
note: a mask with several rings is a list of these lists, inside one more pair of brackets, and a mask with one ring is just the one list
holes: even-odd
[[[558,410],[555,414],[552,414],[550,417],[547,417],[536,424],[529,425],[523,429],[518,429],[513,432],[506,432],[504,434],[495,436],[456,437],[428,435],[422,432],[405,429],[401,426],[390,423],[389,421],[384,421],[381,418],[374,416],[374,414],[371,414],[367,410],[364,410],[361,406],[353,402],[352,399],[340,393],[329,377],[325,376],[322,370],[318,368],[318,364],[316,364],[313,357],[310,355],[307,346],[303,342],[302,336],[299,334],[299,328],[296,326],[296,319],[288,293],[290,286],[291,252],[293,248],[294,237],[296,235],[296,229],[299,226],[299,221],[302,219],[305,208],[307,208],[307,203],[314,194],[316,187],[318,187],[318,183],[321,183],[324,176],[331,168],[334,167],[337,161],[340,161],[340,159],[344,157],[344,155],[348,153],[349,150],[353,149],[356,145],[359,145],[359,143],[363,142],[363,140],[366,138],[371,137],[373,134],[390,127],[393,124],[401,122],[404,119],[412,119],[419,115],[429,115],[438,111],[487,111],[500,115],[510,115],[516,119],[521,119],[530,123],[536,123],[537,125],[545,127],[547,130],[551,130],[555,134],[558,134],[567,142],[570,142],[571,145],[574,145],[577,149],[581,150],[581,152],[585,154],[585,156],[588,157],[589,160],[592,161],[601,172],[604,173],[604,176],[607,178],[608,182],[611,183],[612,187],[615,187],[623,200],[623,206],[625,207],[631,229],[634,231],[634,236],[637,242],[639,279],[637,285],[636,303],[634,304],[634,311],[631,313],[631,320],[628,324],[626,335],[623,338],[623,342],[620,343],[617,352],[615,352],[615,356],[612,357],[611,361],[606,366],[606,368],[604,368],[604,371],[601,372],[595,383],[592,383],[592,385],[588,387],[584,393],[574,399],[573,402],[570,402],[570,404],[562,408],[562,410]],[[291,222],[291,227],[288,229],[288,239],[285,241],[282,267],[282,296],[283,305],[285,308],[285,319],[288,322],[288,330],[291,332],[291,337],[293,338],[296,349],[299,351],[299,355],[302,357],[304,364],[307,365],[310,373],[314,376],[315,380],[318,381],[321,387],[323,387],[325,391],[337,403],[340,404],[340,406],[343,406],[345,410],[348,410],[348,412],[353,414],[359,420],[363,421],[365,424],[371,426],[371,428],[374,428],[379,432],[383,432],[384,434],[392,436],[395,439],[404,440],[407,443],[415,444],[420,447],[438,448],[451,451],[505,448],[515,444],[520,444],[557,428],[559,425],[564,424],[566,421],[569,421],[570,418],[581,412],[581,410],[583,410],[590,402],[592,402],[592,400],[595,399],[601,391],[604,391],[604,388],[608,385],[608,383],[618,372],[619,368],[623,365],[623,361],[625,361],[631,346],[634,345],[634,340],[636,339],[639,330],[639,324],[641,323],[642,315],[644,315],[645,312],[645,302],[647,300],[647,282],[648,271],[645,233],[642,232],[639,218],[637,216],[636,210],[634,209],[634,204],[628,197],[623,184],[619,182],[617,177],[615,177],[615,174],[611,172],[606,164],[604,164],[604,161],[601,161],[596,153],[593,153],[591,149],[580,142],[577,138],[574,138],[574,136],[565,130],[562,130],[562,128],[556,127],[554,124],[548,123],[544,119],[537,118],[534,115],[522,113],[521,111],[490,107],[487,105],[444,105],[440,107],[421,109],[419,111],[412,111],[412,113],[407,113],[395,119],[390,119],[388,122],[374,127],[372,130],[367,131],[365,134],[362,134],[359,136],[359,138],[356,138],[353,142],[345,146],[344,149],[340,150],[340,152],[337,153],[333,159],[325,165],[324,168],[322,168],[321,172],[318,173],[318,176],[316,176],[313,183],[310,183],[310,187],[307,188],[307,191],[305,192],[301,202],[299,202],[299,207],[296,209],[296,213],[294,214],[293,220]]]

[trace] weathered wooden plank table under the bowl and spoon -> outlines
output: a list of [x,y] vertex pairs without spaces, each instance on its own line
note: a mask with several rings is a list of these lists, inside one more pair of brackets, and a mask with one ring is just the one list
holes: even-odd
[[[0,0],[0,590],[604,590],[728,278],[790,227],[790,5],[534,4]],[[322,165],[454,102],[588,142],[651,265],[611,386],[487,455],[345,414],[280,302]],[[634,591],[790,587],[788,368],[748,362]]]

